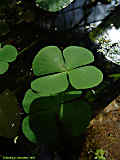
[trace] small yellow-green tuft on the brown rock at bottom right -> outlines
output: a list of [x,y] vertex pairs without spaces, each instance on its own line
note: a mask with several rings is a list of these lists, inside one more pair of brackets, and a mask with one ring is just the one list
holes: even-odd
[[94,159],[97,160],[106,160],[106,158],[104,157],[105,151],[103,149],[97,149],[95,152],[95,157]]

